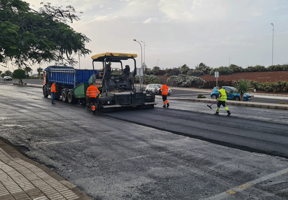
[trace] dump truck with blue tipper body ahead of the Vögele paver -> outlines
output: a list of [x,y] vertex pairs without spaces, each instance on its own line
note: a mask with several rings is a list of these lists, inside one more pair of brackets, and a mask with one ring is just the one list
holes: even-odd
[[62,96],[62,101],[74,103],[77,101],[77,98],[74,95],[73,89],[77,85],[88,83],[92,75],[92,69],[75,69],[70,66],[48,66],[44,69],[43,96],[48,97],[50,95],[52,83],[55,81],[57,91],[55,98]]

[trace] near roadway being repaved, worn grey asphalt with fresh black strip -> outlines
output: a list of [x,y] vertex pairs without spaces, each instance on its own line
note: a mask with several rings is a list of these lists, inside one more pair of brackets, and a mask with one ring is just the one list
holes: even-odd
[[288,197],[287,111],[229,106],[230,117],[215,116],[203,103],[164,109],[157,99],[150,110],[91,115],[52,105],[40,88],[0,90],[0,136],[94,199]]

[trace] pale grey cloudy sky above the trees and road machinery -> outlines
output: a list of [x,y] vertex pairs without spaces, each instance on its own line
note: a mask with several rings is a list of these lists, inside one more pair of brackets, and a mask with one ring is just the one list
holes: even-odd
[[[26,2],[40,7],[37,0]],[[246,68],[287,63],[287,0],[50,0],[52,6],[73,6],[81,21],[69,24],[92,41],[92,54],[80,58],[92,68],[91,56],[104,52],[138,54],[145,42],[148,68],[173,68],[200,62],[216,68],[236,64]],[[144,43],[140,42],[143,48]],[[75,56],[78,60],[78,55]],[[53,64],[53,63],[51,63]],[[48,63],[43,64],[45,68]],[[39,66],[38,66],[39,67]],[[32,67],[36,70],[37,66]],[[79,68],[79,64],[75,66]],[[1,68],[7,70],[7,68]]]

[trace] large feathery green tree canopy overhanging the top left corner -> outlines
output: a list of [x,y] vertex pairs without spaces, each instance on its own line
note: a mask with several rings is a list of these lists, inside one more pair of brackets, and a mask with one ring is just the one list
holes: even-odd
[[75,65],[74,55],[91,53],[89,42],[67,22],[80,20],[73,7],[43,4],[39,11],[21,0],[0,1],[0,62],[14,61],[18,68],[40,62]]

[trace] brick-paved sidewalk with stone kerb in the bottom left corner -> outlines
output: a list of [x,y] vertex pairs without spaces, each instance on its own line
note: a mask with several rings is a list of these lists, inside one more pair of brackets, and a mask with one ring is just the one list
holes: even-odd
[[75,185],[0,140],[1,200],[92,200]]

